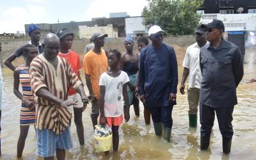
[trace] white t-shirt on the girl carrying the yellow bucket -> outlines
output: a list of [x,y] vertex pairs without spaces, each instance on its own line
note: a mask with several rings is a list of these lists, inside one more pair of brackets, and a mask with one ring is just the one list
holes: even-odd
[[100,86],[106,87],[104,113],[108,117],[118,117],[123,113],[123,85],[129,82],[127,73],[121,71],[118,77],[111,77],[106,72],[100,76]]

